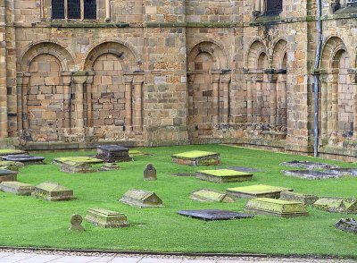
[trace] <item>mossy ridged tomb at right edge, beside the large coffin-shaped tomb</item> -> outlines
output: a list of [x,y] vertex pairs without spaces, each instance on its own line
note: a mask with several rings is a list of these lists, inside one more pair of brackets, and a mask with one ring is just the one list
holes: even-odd
[[320,198],[312,206],[328,212],[357,214],[357,199]]

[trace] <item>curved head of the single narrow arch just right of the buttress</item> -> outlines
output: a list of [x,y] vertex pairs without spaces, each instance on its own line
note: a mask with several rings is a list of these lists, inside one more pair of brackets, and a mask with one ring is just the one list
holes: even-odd
[[228,68],[227,56],[224,54],[222,48],[216,43],[206,40],[196,44],[191,49],[187,59],[189,71],[194,71],[195,67],[193,63],[195,62],[195,58],[202,53],[206,53],[212,57],[212,69],[220,70]]

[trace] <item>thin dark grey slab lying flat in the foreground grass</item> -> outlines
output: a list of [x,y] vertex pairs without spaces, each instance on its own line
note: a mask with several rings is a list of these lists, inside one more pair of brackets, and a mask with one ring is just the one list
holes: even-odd
[[253,215],[237,213],[228,210],[203,209],[203,210],[179,210],[179,215],[190,216],[202,220],[230,220],[253,218]]

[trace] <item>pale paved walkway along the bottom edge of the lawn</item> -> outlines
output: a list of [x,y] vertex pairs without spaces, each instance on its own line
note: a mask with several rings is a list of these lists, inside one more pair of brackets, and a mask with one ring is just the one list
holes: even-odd
[[70,253],[51,251],[0,250],[0,263],[239,263],[239,262],[356,262],[338,259],[281,259],[281,258],[231,258],[183,257],[170,255],[124,255],[100,253]]

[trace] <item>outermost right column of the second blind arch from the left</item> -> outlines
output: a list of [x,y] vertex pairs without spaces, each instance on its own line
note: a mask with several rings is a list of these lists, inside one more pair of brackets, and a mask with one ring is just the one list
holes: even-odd
[[143,83],[144,75],[137,74],[133,78],[133,131],[143,131]]

